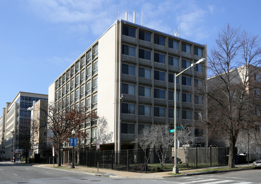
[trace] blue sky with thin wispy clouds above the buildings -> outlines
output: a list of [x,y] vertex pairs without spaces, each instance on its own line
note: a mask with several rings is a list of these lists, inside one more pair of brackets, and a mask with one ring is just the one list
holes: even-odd
[[[0,108],[19,91],[48,94],[49,85],[118,19],[214,46],[230,23],[259,34],[261,1],[0,0]],[[0,111],[0,116],[2,110]]]

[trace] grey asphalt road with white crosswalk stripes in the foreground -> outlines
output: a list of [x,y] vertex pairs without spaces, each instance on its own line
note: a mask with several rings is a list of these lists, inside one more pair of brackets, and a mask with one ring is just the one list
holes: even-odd
[[0,184],[28,183],[28,184],[86,184],[86,183],[113,183],[113,184],[261,184],[261,169],[236,171],[230,173],[208,174],[199,176],[171,177],[161,179],[128,179],[109,178],[79,174],[70,171],[54,170],[33,167],[31,165],[11,164],[0,162]]

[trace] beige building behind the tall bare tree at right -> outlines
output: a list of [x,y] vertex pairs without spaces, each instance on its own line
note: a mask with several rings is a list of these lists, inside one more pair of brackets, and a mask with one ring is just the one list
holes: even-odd
[[[235,68],[233,70],[229,71],[229,77],[230,77],[230,95],[232,97],[232,109],[235,109],[234,112],[232,113],[232,118],[237,118],[237,111],[238,111],[238,107],[240,107],[240,94],[242,93],[242,89],[244,89],[244,97],[242,98],[243,100],[247,99],[246,101],[244,101],[244,108],[242,110],[241,113],[246,114],[249,119],[247,120],[246,117],[243,117],[242,119],[247,121],[247,123],[249,124],[247,128],[250,128],[250,126],[252,126],[254,124],[254,130],[250,130],[250,136],[253,134],[253,131],[256,131],[256,135],[260,134],[261,137],[261,122],[260,122],[260,118],[255,118],[257,116],[260,117],[260,102],[259,102],[259,95],[260,95],[260,74],[261,73],[261,68],[257,67],[257,66],[253,66],[253,65],[244,65],[244,66],[240,66],[238,68]],[[226,76],[227,73],[221,73],[220,76],[213,76],[207,79],[207,83],[208,83],[208,90],[211,91],[212,89],[215,90],[220,90],[222,89],[221,86],[224,86],[224,91],[227,92],[225,85],[222,84],[222,80],[221,77],[223,77],[226,82],[228,83],[228,76]],[[246,88],[244,88],[244,85],[246,83]],[[216,87],[218,86],[218,87]],[[223,92],[219,92],[220,94],[225,94]],[[227,97],[225,97],[225,95],[220,95],[220,96],[216,96],[217,98],[224,98],[227,99]],[[228,100],[227,100],[228,101]],[[253,102],[254,101],[254,102]],[[229,104],[229,103],[228,103]],[[250,105],[251,104],[251,105]],[[256,106],[254,105],[256,104]],[[225,107],[224,107],[225,108]],[[247,109],[247,111],[245,110]],[[256,121],[257,120],[257,121]],[[257,136],[258,137],[258,136]],[[245,135],[243,137],[243,139],[245,140],[243,144],[248,145],[249,143],[247,143],[247,132],[245,132]],[[228,140],[228,139],[227,139]],[[238,137],[239,142],[243,142],[242,137],[240,140],[240,136]],[[254,140],[255,142],[256,140]],[[215,140],[209,140],[210,144],[216,144],[219,146],[224,146],[224,145],[228,145],[228,142],[217,142]],[[252,141],[253,143],[253,141]],[[238,145],[236,144],[236,147]],[[254,151],[255,150],[255,151]],[[242,153],[241,148],[238,148],[239,153]],[[245,151],[247,152],[247,151]],[[250,141],[250,149],[249,149],[249,153],[250,154],[256,154],[256,153],[260,153],[261,152],[261,147],[258,144],[255,144],[255,146],[251,146],[251,141]]]

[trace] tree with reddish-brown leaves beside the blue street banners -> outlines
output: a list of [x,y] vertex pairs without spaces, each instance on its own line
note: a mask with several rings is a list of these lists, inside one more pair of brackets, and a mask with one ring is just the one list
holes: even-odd
[[98,116],[95,112],[86,114],[85,107],[70,108],[67,101],[50,102],[48,107],[40,106],[39,109],[45,113],[45,118],[47,118],[45,126],[53,132],[53,136],[48,137],[48,140],[55,147],[58,155],[57,164],[61,166],[61,146],[64,142],[69,143],[69,138],[73,137],[72,130],[75,130],[74,137],[78,138],[78,141],[86,139],[88,134],[81,130],[82,125],[86,119],[94,120],[98,119]]

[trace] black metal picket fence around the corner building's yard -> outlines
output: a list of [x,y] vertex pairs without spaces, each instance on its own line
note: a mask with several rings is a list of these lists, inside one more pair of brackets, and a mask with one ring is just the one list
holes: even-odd
[[[99,159],[98,159],[99,158]],[[79,164],[87,167],[123,171],[172,171],[174,149],[134,149],[120,151],[80,152]],[[179,168],[225,165],[225,147],[180,147],[177,149]]]

